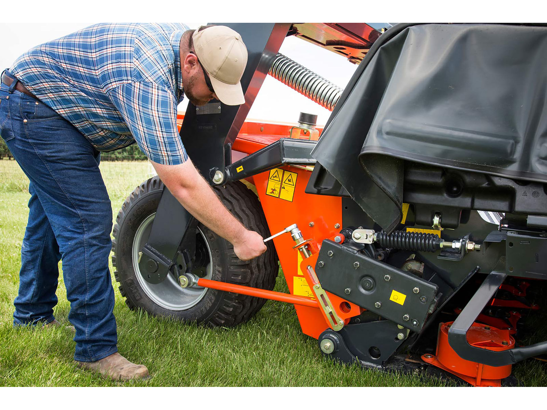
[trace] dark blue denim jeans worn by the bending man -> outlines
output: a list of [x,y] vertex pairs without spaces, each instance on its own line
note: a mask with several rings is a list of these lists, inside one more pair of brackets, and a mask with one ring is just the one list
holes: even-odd
[[30,179],[14,326],[54,320],[62,260],[74,325],[74,359],[118,351],[114,290],[108,269],[112,207],[99,171],[100,153],[41,101],[0,86],[0,133]]

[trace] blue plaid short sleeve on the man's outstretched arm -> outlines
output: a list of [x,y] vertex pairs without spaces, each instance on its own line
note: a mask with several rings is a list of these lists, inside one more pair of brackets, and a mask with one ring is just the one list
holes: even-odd
[[137,81],[115,87],[109,97],[150,161],[178,165],[188,160],[177,130],[177,101],[171,91]]

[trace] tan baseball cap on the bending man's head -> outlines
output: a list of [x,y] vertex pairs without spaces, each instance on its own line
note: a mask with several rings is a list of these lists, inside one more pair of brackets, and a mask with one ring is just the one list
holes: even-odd
[[192,37],[197,58],[220,101],[228,106],[245,103],[240,81],[247,65],[247,47],[240,34],[226,26],[212,26],[196,30]]

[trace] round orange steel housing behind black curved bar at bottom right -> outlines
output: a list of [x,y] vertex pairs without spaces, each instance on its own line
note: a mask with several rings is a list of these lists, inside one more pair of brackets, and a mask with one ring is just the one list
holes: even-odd
[[[450,347],[448,330],[453,322],[441,323],[437,340],[437,355],[424,354],[422,360],[455,374],[473,386],[501,386],[501,379],[511,374],[511,365],[488,366],[464,360]],[[501,352],[515,347],[515,339],[507,330],[473,323],[467,331],[467,342],[482,349]]]

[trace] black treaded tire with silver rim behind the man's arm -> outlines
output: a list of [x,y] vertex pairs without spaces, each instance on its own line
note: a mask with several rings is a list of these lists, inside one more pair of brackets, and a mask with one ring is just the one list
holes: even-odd
[[[150,315],[211,326],[236,326],[251,319],[266,302],[207,288],[181,288],[174,274],[159,284],[150,284],[138,267],[139,250],[148,240],[152,221],[164,184],[159,177],[139,185],[125,200],[116,218],[112,241],[112,265],[121,296],[131,309],[143,309]],[[236,182],[214,188],[220,201],[249,230],[270,236],[266,218],[257,196],[245,184]],[[196,261],[201,260],[201,277],[253,288],[274,289],[278,265],[272,242],[264,254],[241,261],[234,247],[224,238],[198,224]],[[194,272],[194,271],[193,271]]]

